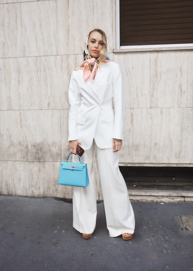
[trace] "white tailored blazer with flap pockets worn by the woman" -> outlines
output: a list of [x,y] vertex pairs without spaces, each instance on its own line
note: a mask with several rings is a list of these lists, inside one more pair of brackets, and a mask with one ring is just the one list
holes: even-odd
[[101,149],[112,148],[112,138],[123,139],[125,95],[117,63],[101,64],[95,79],[86,82],[83,69],[73,70],[69,104],[68,140],[79,139],[82,148],[88,150],[93,139]]

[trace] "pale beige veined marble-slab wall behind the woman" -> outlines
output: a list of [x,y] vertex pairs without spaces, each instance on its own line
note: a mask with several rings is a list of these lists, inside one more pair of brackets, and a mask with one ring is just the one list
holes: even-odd
[[[123,72],[120,162],[192,166],[193,51],[114,53],[115,0],[0,0],[0,25],[0,194],[72,197],[57,184],[68,153],[68,85],[95,27]],[[101,200],[96,157],[94,166]]]

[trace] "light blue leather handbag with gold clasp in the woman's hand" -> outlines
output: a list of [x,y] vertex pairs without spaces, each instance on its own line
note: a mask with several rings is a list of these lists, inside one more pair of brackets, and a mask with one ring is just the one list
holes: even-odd
[[58,184],[86,187],[89,184],[87,166],[80,157],[79,163],[68,162],[70,154],[61,162]]

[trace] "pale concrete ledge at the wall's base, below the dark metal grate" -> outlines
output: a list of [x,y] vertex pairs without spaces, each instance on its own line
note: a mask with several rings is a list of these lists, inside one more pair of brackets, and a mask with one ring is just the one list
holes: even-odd
[[193,202],[192,190],[128,189],[131,201]]

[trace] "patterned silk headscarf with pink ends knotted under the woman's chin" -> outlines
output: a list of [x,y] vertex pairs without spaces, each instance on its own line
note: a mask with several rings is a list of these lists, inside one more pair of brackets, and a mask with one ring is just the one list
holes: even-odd
[[[91,33],[91,32],[90,32]],[[88,52],[88,34],[86,40],[85,40],[85,49],[84,49],[84,62],[80,65],[80,67],[84,67],[83,69],[83,77],[84,81],[86,82],[89,78],[92,80],[97,73],[97,62],[100,61],[101,57],[99,56],[97,59],[94,57],[91,57],[91,55]],[[108,57],[107,51],[106,51],[106,59],[105,62],[109,61],[110,58]],[[91,67],[93,66],[92,72]]]

